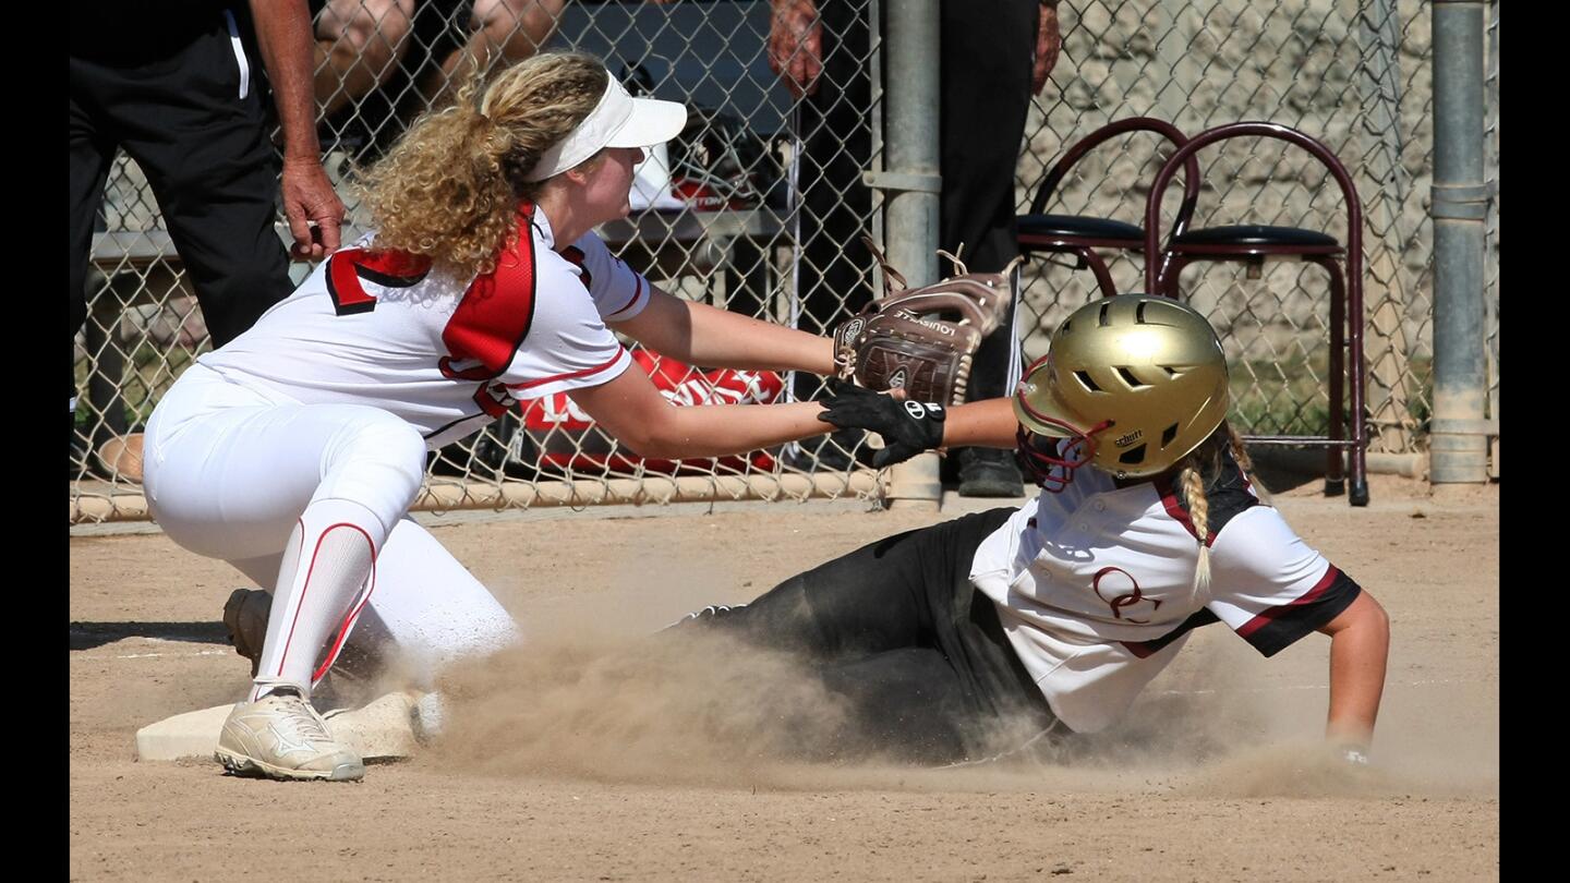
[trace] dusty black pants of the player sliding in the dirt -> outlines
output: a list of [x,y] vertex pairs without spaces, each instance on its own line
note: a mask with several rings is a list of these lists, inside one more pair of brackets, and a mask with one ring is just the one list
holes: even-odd
[[807,751],[920,764],[977,759],[999,748],[994,734],[1005,718],[1022,718],[1031,734],[1057,720],[992,600],[969,578],[977,547],[1013,512],[977,512],[873,542],[691,627],[798,654],[848,701],[845,732]]

